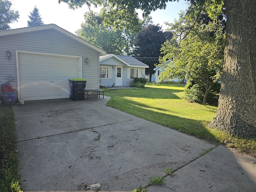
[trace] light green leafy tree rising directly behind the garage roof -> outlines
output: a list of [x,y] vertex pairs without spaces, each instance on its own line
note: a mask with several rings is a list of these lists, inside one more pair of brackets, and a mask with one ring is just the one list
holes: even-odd
[[[76,34],[105,50],[107,53],[113,54],[130,54],[134,49],[135,37],[138,33],[129,29],[114,28],[113,25],[104,23],[109,17],[105,9],[100,14],[94,12],[86,12],[84,15],[85,22],[81,24],[81,29]],[[142,22],[139,23],[142,28]]]

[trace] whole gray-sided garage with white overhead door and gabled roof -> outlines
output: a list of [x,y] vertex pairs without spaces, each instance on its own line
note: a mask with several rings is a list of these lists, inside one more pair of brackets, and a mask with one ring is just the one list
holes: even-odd
[[55,24],[0,31],[0,45],[0,84],[10,80],[18,100],[69,98],[69,78],[99,89],[106,52]]

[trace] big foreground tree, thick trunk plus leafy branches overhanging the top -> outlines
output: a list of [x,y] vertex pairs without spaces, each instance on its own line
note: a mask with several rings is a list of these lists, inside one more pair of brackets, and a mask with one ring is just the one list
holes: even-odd
[[[136,9],[147,15],[165,8],[168,1],[175,0],[58,0],[72,8],[85,2],[89,6],[112,6],[113,10],[125,12],[126,17],[134,16]],[[217,12],[223,6],[223,0],[187,1],[194,6],[205,6],[211,18],[219,15]],[[227,25],[222,85],[218,110],[210,126],[231,135],[256,139],[256,1],[225,0],[225,6]],[[116,23],[122,21],[126,22],[119,19]]]

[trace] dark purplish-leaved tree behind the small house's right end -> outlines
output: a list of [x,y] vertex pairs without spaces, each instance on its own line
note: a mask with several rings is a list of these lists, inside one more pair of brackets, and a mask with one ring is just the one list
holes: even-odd
[[158,62],[161,45],[168,39],[172,38],[172,33],[169,31],[163,32],[159,25],[149,24],[137,36],[136,55],[138,60],[141,60],[149,66],[146,69],[146,74],[150,77],[154,74],[154,64]]

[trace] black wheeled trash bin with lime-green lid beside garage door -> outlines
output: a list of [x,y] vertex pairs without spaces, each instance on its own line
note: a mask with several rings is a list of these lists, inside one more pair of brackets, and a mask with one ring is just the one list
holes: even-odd
[[68,79],[70,84],[70,99],[73,101],[84,100],[84,88],[87,80],[84,78]]

